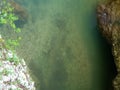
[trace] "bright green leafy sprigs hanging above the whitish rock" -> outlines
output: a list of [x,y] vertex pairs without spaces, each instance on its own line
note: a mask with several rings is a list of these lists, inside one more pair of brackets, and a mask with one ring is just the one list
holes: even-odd
[[[7,0],[1,0],[0,1],[0,24],[6,25],[9,27],[13,33],[17,34],[21,32],[21,29],[16,27],[15,21],[18,20],[18,17],[13,13],[14,8],[11,6],[9,1]],[[15,50],[16,46],[19,45],[19,40],[21,40],[21,37],[16,35],[16,38],[12,39],[9,37],[8,40],[5,40],[5,46],[7,49],[10,49],[12,51]]]

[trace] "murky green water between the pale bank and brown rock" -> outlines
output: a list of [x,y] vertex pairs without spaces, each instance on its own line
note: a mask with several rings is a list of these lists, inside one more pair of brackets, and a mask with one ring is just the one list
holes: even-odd
[[29,20],[19,55],[37,90],[112,90],[110,48],[97,30],[98,0],[16,0]]

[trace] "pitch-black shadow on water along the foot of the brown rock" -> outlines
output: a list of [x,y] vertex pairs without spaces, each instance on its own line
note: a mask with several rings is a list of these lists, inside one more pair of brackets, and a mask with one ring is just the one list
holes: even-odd
[[105,87],[104,90],[114,90],[112,84],[115,76],[117,75],[117,69],[112,55],[111,45],[109,45],[105,39],[103,40],[103,50],[106,50],[104,52],[104,57],[106,61],[105,64],[103,65],[104,67],[103,69],[105,69],[104,74],[105,82],[103,83],[104,84],[103,86]]

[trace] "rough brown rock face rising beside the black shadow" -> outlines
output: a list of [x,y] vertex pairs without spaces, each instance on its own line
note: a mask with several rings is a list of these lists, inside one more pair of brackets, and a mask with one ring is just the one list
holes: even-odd
[[99,5],[97,19],[103,36],[112,46],[118,72],[113,85],[114,90],[120,90],[120,0],[113,0]]

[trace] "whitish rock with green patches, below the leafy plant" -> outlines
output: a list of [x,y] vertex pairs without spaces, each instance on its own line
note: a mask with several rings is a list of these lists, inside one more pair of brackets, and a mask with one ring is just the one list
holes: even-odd
[[23,59],[4,47],[0,37],[0,90],[35,90]]

